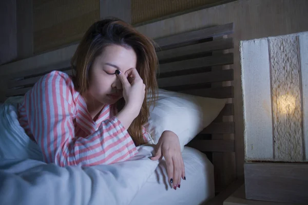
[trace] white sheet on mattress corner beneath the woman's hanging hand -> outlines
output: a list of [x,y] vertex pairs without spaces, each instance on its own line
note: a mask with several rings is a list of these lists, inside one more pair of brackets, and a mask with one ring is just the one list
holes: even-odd
[[202,204],[215,196],[214,166],[205,154],[195,148],[184,147],[183,160],[186,180],[174,190],[168,182],[165,162],[161,161],[131,205]]

